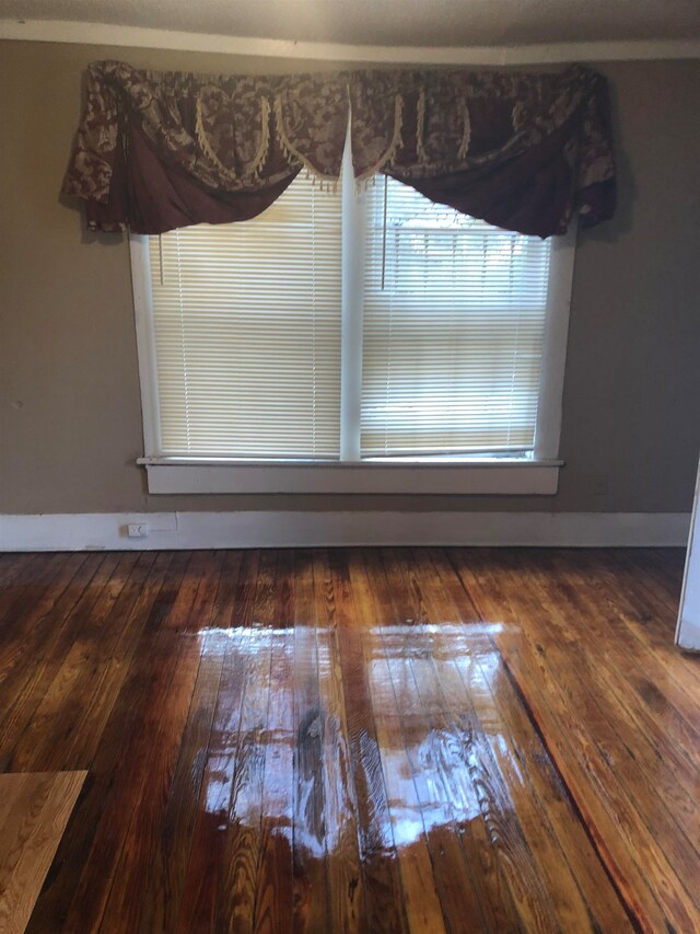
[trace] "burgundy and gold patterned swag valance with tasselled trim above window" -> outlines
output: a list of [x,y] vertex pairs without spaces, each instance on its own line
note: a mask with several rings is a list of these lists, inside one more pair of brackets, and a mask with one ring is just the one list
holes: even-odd
[[91,230],[246,220],[304,168],[334,184],[349,119],[359,182],[382,172],[539,237],[615,210],[607,82],[583,66],[224,77],[100,61],[86,83],[62,191]]

